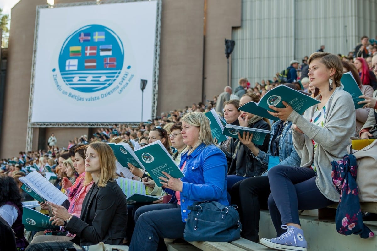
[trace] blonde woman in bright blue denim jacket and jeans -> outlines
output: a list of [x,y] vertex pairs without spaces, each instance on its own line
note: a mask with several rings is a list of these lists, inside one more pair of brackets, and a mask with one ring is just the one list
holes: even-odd
[[164,238],[183,238],[185,222],[190,210],[187,206],[197,201],[216,201],[228,205],[227,161],[212,138],[207,117],[201,112],[182,117],[182,138],[187,145],[181,156],[184,177],[160,177],[165,190],[173,192],[173,203],[140,207],[135,213],[130,251],[166,250]]

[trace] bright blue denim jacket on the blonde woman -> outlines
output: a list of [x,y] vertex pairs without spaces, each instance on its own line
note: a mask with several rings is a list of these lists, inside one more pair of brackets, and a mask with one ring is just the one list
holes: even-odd
[[[182,170],[184,177],[181,195],[181,215],[182,222],[187,221],[191,206],[198,201],[216,201],[228,206],[227,198],[227,160],[225,154],[215,145],[199,145],[194,152],[181,156],[181,164],[186,161]],[[171,193],[172,190],[165,189]],[[176,201],[175,193],[172,193],[170,202]]]

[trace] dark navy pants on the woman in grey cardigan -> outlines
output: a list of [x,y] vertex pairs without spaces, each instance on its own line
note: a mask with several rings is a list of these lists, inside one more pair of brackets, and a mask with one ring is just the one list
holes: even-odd
[[334,203],[319,191],[316,178],[316,172],[306,167],[277,165],[268,171],[271,189],[268,210],[277,236],[285,233],[282,224],[300,224],[298,210],[323,208]]

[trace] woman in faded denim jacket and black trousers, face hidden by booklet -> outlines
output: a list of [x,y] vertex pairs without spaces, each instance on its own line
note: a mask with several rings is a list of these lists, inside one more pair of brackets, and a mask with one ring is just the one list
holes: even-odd
[[[294,84],[285,84],[292,89],[297,90]],[[271,157],[276,159],[276,164],[289,165],[296,167],[300,165],[301,159],[293,147],[292,122],[276,121],[270,131],[270,142],[268,152],[265,153],[258,149],[252,142],[249,135],[240,138],[242,144],[248,146],[251,154],[258,161],[268,165]],[[232,204],[238,205],[238,211],[242,223],[241,235],[245,239],[253,242],[259,241],[259,216],[262,209],[267,209],[267,199],[270,195],[270,184],[268,182],[267,172],[262,176],[251,177],[237,182],[231,189]]]

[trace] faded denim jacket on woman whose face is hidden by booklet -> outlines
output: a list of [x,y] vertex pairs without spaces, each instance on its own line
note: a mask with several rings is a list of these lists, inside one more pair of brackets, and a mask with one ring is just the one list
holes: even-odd
[[[280,120],[279,120],[280,121]],[[271,126],[271,138],[270,142],[268,143],[268,152],[265,153],[259,150],[258,156],[254,156],[260,162],[268,165],[268,156],[271,156],[271,152],[273,151],[273,144],[271,140],[274,138],[275,133],[277,132],[277,127],[279,126],[279,121],[275,122]],[[283,131],[279,139],[279,165],[289,165],[291,167],[299,167],[301,164],[301,158],[297,154],[296,150],[293,147],[293,138],[292,138],[292,122],[286,121],[284,123]]]

